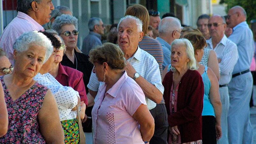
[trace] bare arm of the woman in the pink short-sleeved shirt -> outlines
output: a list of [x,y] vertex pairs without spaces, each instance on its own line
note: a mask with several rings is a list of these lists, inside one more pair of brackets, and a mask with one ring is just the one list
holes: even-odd
[[140,132],[143,141],[149,141],[155,130],[155,121],[147,105],[141,104],[132,116],[140,124]]

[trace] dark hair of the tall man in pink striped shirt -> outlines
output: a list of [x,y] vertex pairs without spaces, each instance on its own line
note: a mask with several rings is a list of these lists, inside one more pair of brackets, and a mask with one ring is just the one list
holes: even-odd
[[32,9],[31,3],[35,1],[38,4],[42,2],[42,0],[17,0],[17,11],[26,13]]

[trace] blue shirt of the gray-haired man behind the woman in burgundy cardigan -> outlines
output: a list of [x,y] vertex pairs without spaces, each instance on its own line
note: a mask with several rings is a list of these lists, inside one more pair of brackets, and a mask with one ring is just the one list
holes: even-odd
[[169,45],[165,40],[160,37],[157,37],[157,40],[160,42],[163,48],[164,53],[164,62],[163,62],[163,69],[167,67],[171,63],[171,45]]

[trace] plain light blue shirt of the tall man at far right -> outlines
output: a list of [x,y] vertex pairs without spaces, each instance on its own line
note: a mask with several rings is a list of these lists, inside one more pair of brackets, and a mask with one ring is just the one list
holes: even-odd
[[250,69],[252,56],[254,54],[253,35],[248,24],[244,21],[233,28],[233,33],[229,36],[231,41],[237,45],[238,61],[232,74]]

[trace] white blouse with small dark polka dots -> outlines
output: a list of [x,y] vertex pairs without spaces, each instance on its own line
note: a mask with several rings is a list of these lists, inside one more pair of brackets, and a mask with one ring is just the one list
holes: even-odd
[[77,117],[77,112],[71,111],[77,105],[77,97],[79,97],[77,91],[71,87],[63,86],[49,73],[44,75],[38,73],[34,80],[51,90],[58,105],[61,121]]

